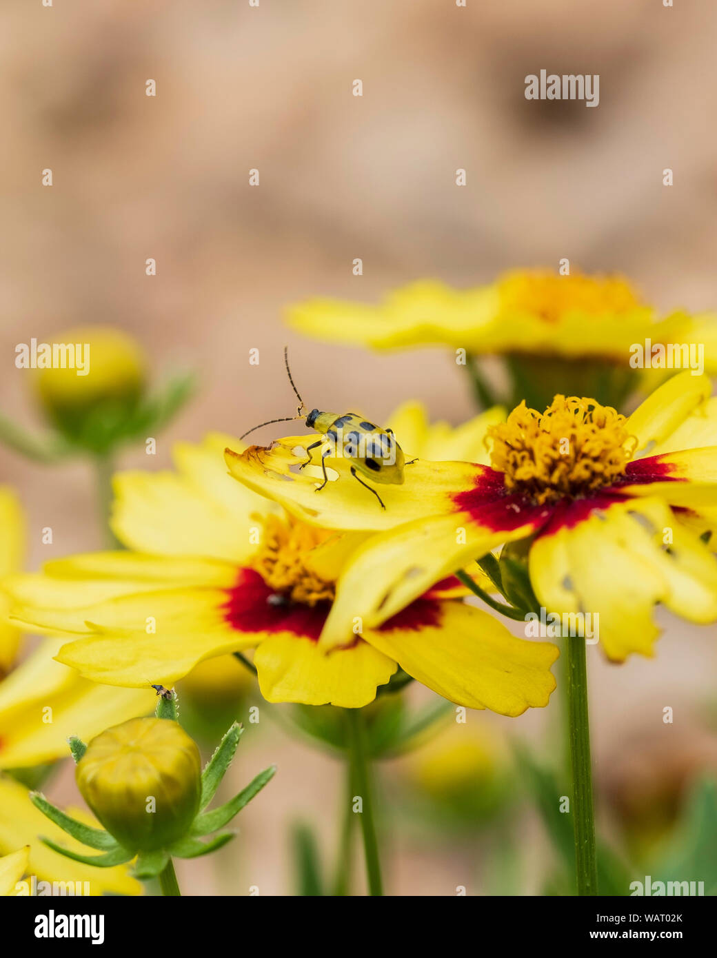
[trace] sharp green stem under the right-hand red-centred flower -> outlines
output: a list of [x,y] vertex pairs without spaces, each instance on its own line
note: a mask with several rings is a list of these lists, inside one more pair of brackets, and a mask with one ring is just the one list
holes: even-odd
[[597,895],[595,820],[592,810],[588,666],[585,639],[568,636],[567,722],[572,765],[572,820],[578,895]]

